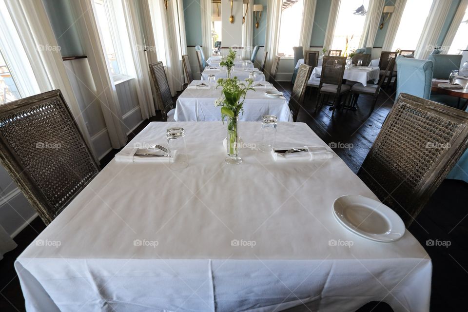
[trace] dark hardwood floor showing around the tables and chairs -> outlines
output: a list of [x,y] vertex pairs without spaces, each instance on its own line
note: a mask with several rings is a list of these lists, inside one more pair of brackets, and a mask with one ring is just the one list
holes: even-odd
[[[289,82],[276,83],[276,87],[290,97],[292,86]],[[383,90],[377,100],[374,112],[369,117],[371,101],[360,97],[356,111],[343,110],[331,117],[328,106],[314,114],[316,93],[309,99],[306,94],[304,109],[298,120],[307,123],[327,144],[336,146],[333,150],[357,173],[370,146],[380,131],[392,104],[391,91]],[[135,137],[150,121],[160,121],[156,116],[143,122],[130,135]],[[334,143],[334,144],[333,144]],[[118,152],[114,150],[101,159],[104,167]],[[433,277],[430,311],[467,312],[468,303],[468,183],[445,180],[430,199],[422,213],[409,228],[432,259]],[[45,228],[39,218],[15,237],[18,248],[4,255],[0,261],[0,311],[24,311],[20,283],[13,263],[26,246]],[[450,246],[430,246],[428,240],[449,241]],[[386,304],[370,303],[359,312],[387,312]]]

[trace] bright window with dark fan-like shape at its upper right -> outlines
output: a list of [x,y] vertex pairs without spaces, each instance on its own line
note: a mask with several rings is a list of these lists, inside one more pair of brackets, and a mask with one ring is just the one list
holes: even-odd
[[[333,40],[331,41],[331,49],[342,50],[344,55],[360,48],[358,45],[361,40],[364,23],[366,22],[364,11],[358,10],[358,8],[362,8],[361,6],[364,6],[364,10],[368,10],[369,0],[346,0],[340,2]],[[361,13],[355,14],[356,12]],[[346,39],[348,39],[348,46],[346,46]]]

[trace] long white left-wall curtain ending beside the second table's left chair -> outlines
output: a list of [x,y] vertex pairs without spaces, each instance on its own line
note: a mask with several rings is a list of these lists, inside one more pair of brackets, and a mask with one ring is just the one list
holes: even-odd
[[148,60],[145,54],[145,40],[140,27],[140,15],[138,14],[137,2],[134,0],[123,0],[125,20],[129,39],[131,42],[133,63],[136,74],[137,97],[141,110],[141,117],[148,119],[155,116],[155,105],[151,90],[151,78],[148,70]]

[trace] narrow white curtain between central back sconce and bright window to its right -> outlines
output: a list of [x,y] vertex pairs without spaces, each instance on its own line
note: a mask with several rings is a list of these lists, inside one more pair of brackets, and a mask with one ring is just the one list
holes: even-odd
[[278,52],[278,41],[279,41],[279,28],[281,24],[281,7],[282,0],[271,0],[268,2],[267,9],[267,21],[265,24],[266,35],[265,35],[265,52],[268,52],[267,64],[265,65],[267,70],[267,79],[270,78],[270,69],[273,64],[273,58]]

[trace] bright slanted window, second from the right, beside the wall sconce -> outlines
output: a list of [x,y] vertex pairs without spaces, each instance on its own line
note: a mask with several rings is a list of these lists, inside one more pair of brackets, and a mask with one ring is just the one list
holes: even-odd
[[400,25],[393,41],[392,51],[396,49],[416,50],[424,24],[429,16],[432,0],[407,0]]

